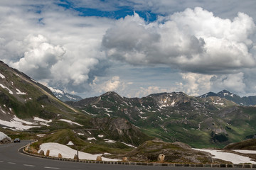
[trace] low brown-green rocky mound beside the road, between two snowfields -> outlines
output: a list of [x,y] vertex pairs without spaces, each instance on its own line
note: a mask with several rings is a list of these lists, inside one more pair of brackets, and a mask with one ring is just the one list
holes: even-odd
[[134,162],[213,163],[209,153],[196,151],[181,142],[160,140],[146,141],[124,156]]

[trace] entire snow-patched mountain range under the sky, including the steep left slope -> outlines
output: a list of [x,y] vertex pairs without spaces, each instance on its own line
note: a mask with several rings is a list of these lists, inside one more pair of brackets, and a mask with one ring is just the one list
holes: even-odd
[[[0,62],[0,129],[10,137],[17,134],[10,130],[18,130],[20,137],[45,132],[48,137],[42,142],[72,140],[90,152],[122,152],[120,148],[154,138],[199,148],[224,147],[256,134],[256,108],[246,97],[225,90],[199,97],[172,92],[142,98],[110,91],[65,103],[51,90]],[[252,102],[254,96],[247,98]]]

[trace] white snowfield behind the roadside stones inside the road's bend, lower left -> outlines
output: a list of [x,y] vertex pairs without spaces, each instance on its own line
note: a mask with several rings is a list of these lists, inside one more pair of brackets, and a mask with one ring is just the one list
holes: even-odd
[[[58,157],[58,154],[60,153],[63,158],[74,158],[75,154],[77,154],[77,151],[75,149],[72,149],[68,146],[61,145],[55,142],[49,142],[49,143],[43,143],[40,145],[40,150],[38,153],[43,150],[43,152],[47,152],[47,150],[50,150],[50,156],[51,157]],[[97,156],[102,156],[102,154],[88,154],[85,152],[78,152],[79,159],[87,159],[87,160],[96,160]],[[121,161],[119,159],[109,159],[102,157],[102,161]]]

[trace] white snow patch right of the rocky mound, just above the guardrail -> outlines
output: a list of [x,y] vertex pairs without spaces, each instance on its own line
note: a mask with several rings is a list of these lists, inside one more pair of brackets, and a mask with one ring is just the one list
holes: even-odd
[[222,159],[224,161],[232,162],[233,164],[256,164],[256,162],[252,161],[249,157],[243,157],[238,154],[233,154],[229,152],[223,152],[222,150],[213,150],[213,149],[195,149],[198,151],[209,152],[213,154],[216,159]]

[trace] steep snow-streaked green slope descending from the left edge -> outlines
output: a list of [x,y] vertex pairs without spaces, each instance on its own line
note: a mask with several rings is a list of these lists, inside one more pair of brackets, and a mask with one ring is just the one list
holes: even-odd
[[[11,137],[37,138],[40,141],[43,135],[48,136],[55,130],[65,129],[68,130],[66,133],[68,136],[76,134],[76,141],[117,148],[138,146],[152,139],[125,119],[91,118],[60,101],[46,86],[12,69],[4,62],[0,62],[1,128]],[[21,132],[16,132],[14,135],[10,130]],[[36,136],[38,133],[39,136]],[[95,140],[90,140],[93,138]],[[54,137],[49,139],[46,141],[54,142]],[[107,143],[111,140],[114,142]]]

